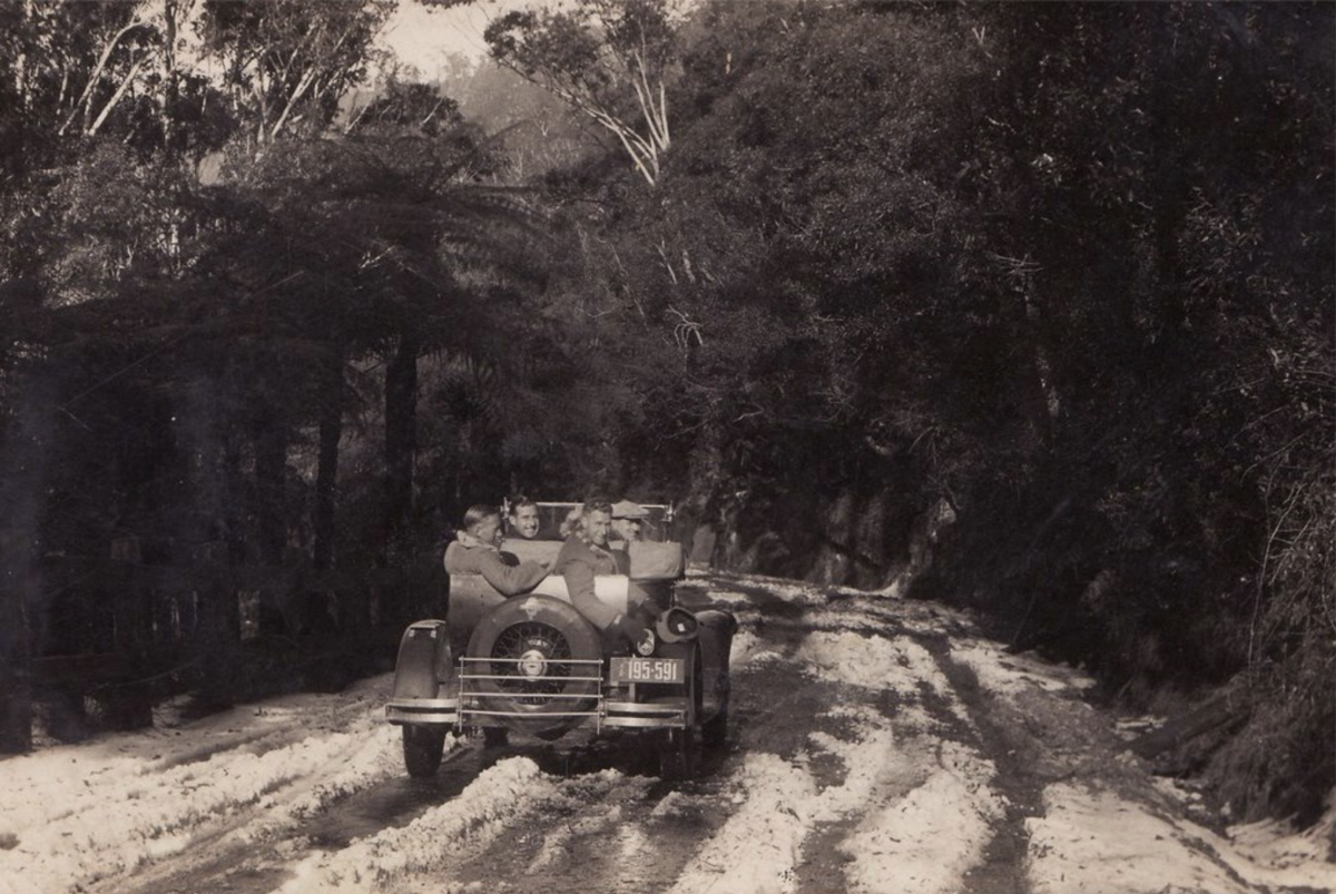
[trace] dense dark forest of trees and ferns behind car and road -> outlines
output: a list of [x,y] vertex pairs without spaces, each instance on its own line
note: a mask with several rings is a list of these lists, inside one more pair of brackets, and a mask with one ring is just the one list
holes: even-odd
[[[453,5],[453,4],[437,4]],[[0,4],[0,527],[393,565],[524,490],[982,609],[1336,783],[1336,8]]]

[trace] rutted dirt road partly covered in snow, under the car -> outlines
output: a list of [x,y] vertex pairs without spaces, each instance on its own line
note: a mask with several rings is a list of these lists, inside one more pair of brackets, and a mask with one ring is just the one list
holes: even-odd
[[887,595],[697,576],[732,608],[728,746],[448,742],[403,772],[389,676],[0,762],[0,890],[1331,891],[1331,814],[1222,829],[1078,672]]

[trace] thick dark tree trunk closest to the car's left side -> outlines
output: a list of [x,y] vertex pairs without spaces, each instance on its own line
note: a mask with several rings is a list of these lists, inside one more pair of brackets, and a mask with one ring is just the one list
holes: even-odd
[[417,454],[417,358],[421,342],[405,334],[385,367],[385,531],[387,557],[405,545],[413,510],[413,460]]

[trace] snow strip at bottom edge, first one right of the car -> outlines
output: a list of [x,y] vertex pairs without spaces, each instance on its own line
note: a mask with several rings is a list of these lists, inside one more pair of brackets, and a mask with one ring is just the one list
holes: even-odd
[[747,755],[744,802],[687,865],[672,894],[784,894],[811,826],[811,774],[772,754]]

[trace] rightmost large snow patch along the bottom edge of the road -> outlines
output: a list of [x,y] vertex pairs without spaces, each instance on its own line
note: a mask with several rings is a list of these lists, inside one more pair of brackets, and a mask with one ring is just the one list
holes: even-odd
[[1025,822],[1034,894],[1250,890],[1200,835],[1112,791],[1058,783],[1043,791],[1043,816]]

